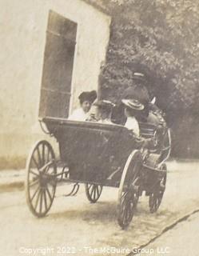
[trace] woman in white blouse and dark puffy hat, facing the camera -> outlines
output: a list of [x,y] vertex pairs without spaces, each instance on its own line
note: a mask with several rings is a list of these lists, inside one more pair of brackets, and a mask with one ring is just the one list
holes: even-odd
[[97,98],[97,93],[95,90],[84,91],[79,95],[78,98],[81,107],[74,110],[74,112],[69,116],[69,120],[86,121],[88,118],[90,118],[90,108]]

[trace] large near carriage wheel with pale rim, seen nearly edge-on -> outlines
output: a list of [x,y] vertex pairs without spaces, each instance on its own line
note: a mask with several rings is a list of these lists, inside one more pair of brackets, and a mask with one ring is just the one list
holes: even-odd
[[141,153],[134,150],[125,163],[118,193],[117,221],[122,229],[129,226],[137,206],[141,166]]

